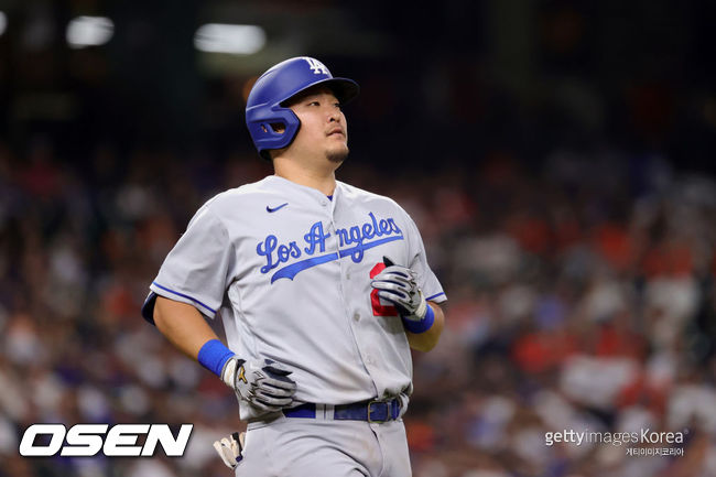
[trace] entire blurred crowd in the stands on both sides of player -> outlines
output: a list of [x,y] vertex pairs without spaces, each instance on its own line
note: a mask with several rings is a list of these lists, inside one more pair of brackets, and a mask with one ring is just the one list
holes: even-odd
[[[416,477],[716,475],[714,177],[565,148],[384,180],[359,154],[338,178],[411,214],[449,299],[414,355]],[[98,142],[70,162],[47,138],[0,143],[0,476],[231,475],[211,442],[242,426],[232,393],[139,310],[196,208],[270,173],[245,152]],[[194,432],[182,458],[22,458],[37,422]],[[545,442],[641,429],[684,432],[684,455]]]

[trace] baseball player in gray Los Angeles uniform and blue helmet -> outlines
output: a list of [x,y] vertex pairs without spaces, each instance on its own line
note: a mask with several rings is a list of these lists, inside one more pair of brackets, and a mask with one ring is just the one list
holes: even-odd
[[[446,296],[411,217],[335,178],[357,94],[311,57],[259,77],[246,121],[274,175],[199,208],[142,307],[236,391],[248,422],[236,475],[411,475],[410,348],[435,346]],[[229,460],[234,441],[218,445]]]

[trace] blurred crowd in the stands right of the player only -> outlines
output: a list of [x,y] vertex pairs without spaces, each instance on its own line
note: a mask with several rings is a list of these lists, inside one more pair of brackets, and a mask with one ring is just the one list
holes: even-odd
[[[632,161],[554,151],[530,177],[500,158],[413,207],[449,295],[417,357],[416,476],[716,475],[716,183]],[[546,444],[569,430],[685,442]]]

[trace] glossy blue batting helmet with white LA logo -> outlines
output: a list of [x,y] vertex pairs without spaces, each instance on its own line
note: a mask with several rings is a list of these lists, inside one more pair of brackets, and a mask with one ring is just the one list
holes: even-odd
[[[319,61],[299,56],[272,66],[257,79],[246,104],[246,126],[259,154],[269,159],[269,149],[291,144],[301,121],[283,102],[312,86],[325,85],[341,105],[358,95],[358,84],[348,78],[334,78]],[[285,128],[276,132],[272,124]]]

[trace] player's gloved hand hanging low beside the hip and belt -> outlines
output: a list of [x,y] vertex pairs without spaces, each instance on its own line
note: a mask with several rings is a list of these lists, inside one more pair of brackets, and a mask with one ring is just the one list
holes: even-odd
[[247,402],[265,412],[276,412],[293,402],[296,383],[285,366],[271,359],[245,361],[230,358],[221,371],[221,380]]

